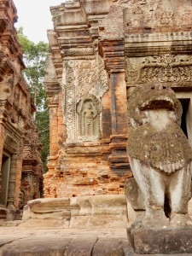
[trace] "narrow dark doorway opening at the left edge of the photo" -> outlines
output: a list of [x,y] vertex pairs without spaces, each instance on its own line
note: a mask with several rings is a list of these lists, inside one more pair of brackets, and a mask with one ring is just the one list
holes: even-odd
[[11,159],[10,154],[3,151],[2,171],[1,171],[2,181],[0,183],[1,185],[0,206],[1,207],[7,207],[7,202],[8,202],[10,159]]

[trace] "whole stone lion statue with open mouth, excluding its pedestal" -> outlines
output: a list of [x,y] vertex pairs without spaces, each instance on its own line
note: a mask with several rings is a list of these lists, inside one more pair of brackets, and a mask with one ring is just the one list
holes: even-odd
[[166,84],[137,85],[128,101],[127,152],[146,208],[140,226],[192,225],[187,215],[192,148],[180,128],[181,115],[181,103]]

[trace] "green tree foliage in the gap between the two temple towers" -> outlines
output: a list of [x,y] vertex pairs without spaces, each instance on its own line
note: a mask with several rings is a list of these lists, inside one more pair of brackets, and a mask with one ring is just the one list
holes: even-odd
[[46,103],[43,80],[49,44],[42,41],[34,44],[23,34],[22,27],[17,30],[17,34],[24,50],[23,59],[26,69],[23,74],[29,84],[33,101],[37,107],[37,112],[34,113],[33,117],[38,125],[39,139],[43,144],[42,160],[44,162],[44,171],[46,172],[46,162],[49,155],[49,109]]

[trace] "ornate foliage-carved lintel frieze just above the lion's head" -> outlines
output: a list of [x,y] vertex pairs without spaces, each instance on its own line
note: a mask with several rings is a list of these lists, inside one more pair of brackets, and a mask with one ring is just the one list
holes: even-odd
[[159,81],[161,83],[189,84],[192,81],[192,56],[157,55],[147,58],[126,58],[128,84]]

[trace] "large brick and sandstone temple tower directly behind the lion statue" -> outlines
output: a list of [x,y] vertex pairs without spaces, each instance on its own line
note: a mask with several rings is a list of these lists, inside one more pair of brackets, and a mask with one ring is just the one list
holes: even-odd
[[121,195],[127,98],[137,84],[166,83],[183,105],[192,144],[192,4],[186,0],[72,1],[50,8],[44,85],[50,114],[45,197]]

